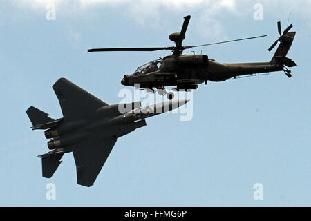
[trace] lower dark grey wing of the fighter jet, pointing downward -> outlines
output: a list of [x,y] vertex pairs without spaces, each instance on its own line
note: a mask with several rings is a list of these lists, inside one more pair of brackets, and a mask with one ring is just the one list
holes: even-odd
[[73,151],[78,184],[88,187],[93,185],[115,142],[117,142],[117,138],[110,140],[95,138],[78,144],[79,147]]

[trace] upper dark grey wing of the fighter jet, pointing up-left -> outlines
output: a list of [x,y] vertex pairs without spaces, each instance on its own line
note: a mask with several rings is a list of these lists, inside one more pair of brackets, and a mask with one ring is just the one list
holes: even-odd
[[59,100],[64,117],[85,115],[101,106],[108,105],[66,78],[60,78],[53,85],[53,89]]

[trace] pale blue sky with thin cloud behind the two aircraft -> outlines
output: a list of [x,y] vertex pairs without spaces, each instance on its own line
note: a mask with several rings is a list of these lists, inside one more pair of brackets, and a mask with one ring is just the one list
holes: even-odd
[[[53,1],[0,3],[0,206],[311,206],[310,1]],[[255,3],[263,20],[253,19]],[[91,188],[77,185],[66,154],[52,179],[41,177],[43,131],[26,115],[36,106],[62,117],[51,86],[59,77],[109,104],[120,101],[124,74],[160,52],[88,54],[93,47],[172,46],[183,17],[191,15],[185,45],[267,34],[268,37],[196,49],[220,62],[270,61],[267,48],[285,29],[290,11],[296,38],[283,72],[200,84],[194,117],[147,119],[121,137]],[[185,51],[191,54],[191,51]],[[129,88],[133,91],[133,88]],[[57,200],[46,200],[46,184]],[[262,183],[264,200],[252,189]]]

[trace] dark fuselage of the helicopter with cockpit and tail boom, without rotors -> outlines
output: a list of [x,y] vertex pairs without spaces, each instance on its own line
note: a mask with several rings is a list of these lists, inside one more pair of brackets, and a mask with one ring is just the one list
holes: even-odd
[[[154,64],[160,64],[160,67]],[[283,70],[283,65],[275,61],[221,64],[208,59],[207,55],[171,55],[142,67],[141,71],[138,68],[132,75],[125,75],[121,83],[138,88],[176,86],[176,89],[187,90],[196,89],[197,84],[207,81],[225,81],[241,75]]]

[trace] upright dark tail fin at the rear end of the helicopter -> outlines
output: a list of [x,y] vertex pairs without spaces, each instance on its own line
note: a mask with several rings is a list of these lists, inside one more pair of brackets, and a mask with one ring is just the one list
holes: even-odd
[[295,35],[296,32],[287,32],[285,35],[282,36],[282,41],[276,49],[276,52],[272,57],[272,61],[281,62],[288,67],[296,66],[294,61],[286,57],[286,55],[288,55],[290,47],[292,46],[292,41],[294,41]]

